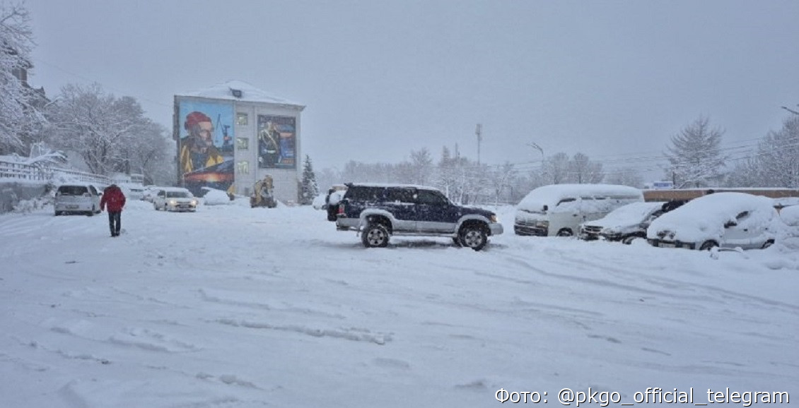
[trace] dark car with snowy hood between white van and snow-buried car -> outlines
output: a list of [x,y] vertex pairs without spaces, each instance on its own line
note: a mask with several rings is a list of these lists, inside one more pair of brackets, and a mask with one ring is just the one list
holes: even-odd
[[663,202],[631,202],[620,206],[603,218],[583,224],[580,239],[604,238],[630,244],[635,238],[646,238],[646,228],[665,213],[663,205]]

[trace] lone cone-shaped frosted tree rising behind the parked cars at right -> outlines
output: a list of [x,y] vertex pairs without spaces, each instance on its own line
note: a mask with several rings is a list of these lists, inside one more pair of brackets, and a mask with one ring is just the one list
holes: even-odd
[[675,188],[714,186],[721,181],[726,159],[721,155],[721,135],[721,129],[710,128],[710,120],[701,117],[671,137],[666,177],[674,180]]

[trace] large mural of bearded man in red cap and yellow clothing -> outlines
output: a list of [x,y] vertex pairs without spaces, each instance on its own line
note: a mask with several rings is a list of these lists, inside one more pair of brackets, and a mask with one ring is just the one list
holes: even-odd
[[204,186],[233,192],[233,104],[178,100],[176,109],[183,185],[195,195]]

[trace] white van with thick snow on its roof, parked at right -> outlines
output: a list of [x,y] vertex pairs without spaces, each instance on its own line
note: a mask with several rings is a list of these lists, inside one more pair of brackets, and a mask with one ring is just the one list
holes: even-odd
[[516,207],[516,235],[571,237],[630,202],[643,202],[641,190],[614,184],[553,184],[532,190]]

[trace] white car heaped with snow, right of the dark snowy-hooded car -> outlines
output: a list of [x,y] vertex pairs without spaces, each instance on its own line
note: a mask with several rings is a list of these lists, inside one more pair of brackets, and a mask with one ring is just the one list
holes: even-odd
[[766,248],[783,226],[771,198],[715,193],[655,219],[646,230],[646,240],[670,248]]

